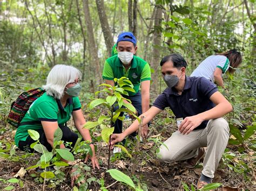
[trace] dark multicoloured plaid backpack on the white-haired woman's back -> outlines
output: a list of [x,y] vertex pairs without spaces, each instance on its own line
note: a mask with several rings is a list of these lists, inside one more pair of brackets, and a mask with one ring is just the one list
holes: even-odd
[[26,112],[29,110],[30,105],[44,93],[45,90],[42,88],[35,88],[24,91],[21,95],[18,96],[15,102],[12,102],[7,122],[17,128]]

